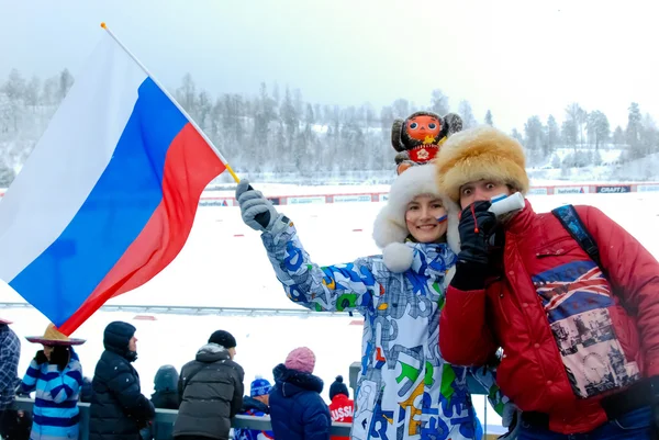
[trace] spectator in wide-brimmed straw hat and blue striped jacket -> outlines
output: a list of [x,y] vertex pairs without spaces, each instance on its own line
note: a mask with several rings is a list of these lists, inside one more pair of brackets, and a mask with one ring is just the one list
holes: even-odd
[[36,391],[33,406],[32,440],[78,439],[78,399],[82,368],[72,346],[85,343],[59,332],[53,324],[44,336],[26,338],[43,345],[30,362],[21,382],[22,393]]

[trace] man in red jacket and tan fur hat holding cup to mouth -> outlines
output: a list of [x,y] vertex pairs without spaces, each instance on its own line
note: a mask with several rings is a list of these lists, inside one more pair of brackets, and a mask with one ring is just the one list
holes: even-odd
[[496,218],[490,200],[525,194],[529,184],[522,146],[495,128],[455,134],[436,167],[440,190],[463,210],[462,250],[439,324],[443,357],[480,365],[503,349],[496,380],[523,411],[521,439],[655,436],[657,260],[592,206],[576,210],[601,267],[528,201]]

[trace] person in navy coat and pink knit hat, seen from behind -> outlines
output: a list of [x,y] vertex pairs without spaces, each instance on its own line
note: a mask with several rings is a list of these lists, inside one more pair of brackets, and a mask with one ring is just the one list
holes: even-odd
[[301,347],[272,370],[270,420],[276,439],[330,440],[332,418],[321,397],[323,381],[312,374],[314,365],[313,351]]

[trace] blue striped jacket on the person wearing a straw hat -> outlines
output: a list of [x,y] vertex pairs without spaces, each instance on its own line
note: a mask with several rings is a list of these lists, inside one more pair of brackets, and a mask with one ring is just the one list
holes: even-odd
[[36,392],[31,440],[71,440],[78,438],[78,395],[82,368],[71,348],[71,359],[63,371],[49,363],[32,360],[21,383],[24,393]]

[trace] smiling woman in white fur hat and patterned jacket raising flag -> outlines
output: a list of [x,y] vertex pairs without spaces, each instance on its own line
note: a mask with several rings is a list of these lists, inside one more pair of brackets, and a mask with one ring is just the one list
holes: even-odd
[[[293,223],[247,180],[236,190],[243,221],[261,239],[289,298],[312,311],[365,316],[353,439],[474,439],[468,368],[438,350],[444,294],[459,250],[458,208],[437,193],[435,167],[412,167],[391,187],[373,237],[381,256],[320,267]],[[480,374],[493,388],[493,376]],[[496,395],[495,407],[507,402]]]

